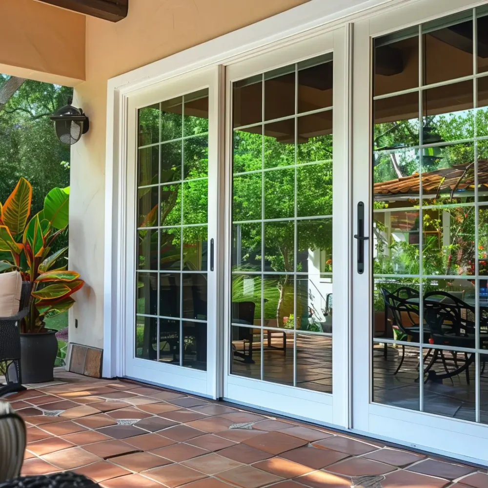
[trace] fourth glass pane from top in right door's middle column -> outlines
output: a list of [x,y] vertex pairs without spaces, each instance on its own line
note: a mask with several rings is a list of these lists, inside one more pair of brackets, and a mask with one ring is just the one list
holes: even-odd
[[424,274],[475,273],[475,207],[424,209]]

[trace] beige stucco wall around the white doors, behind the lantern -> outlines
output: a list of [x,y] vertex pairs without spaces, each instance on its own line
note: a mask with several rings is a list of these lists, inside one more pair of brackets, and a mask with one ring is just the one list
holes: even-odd
[[70,311],[70,342],[103,344],[107,80],[306,1],[131,0],[118,23],[87,17],[86,81],[75,104],[89,115],[90,131],[72,149],[70,196],[70,266],[87,285]]

